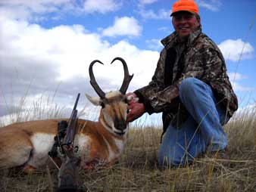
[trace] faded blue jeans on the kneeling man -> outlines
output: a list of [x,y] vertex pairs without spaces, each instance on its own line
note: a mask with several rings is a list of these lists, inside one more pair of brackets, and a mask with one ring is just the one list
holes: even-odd
[[184,79],[180,101],[189,118],[180,128],[169,125],[158,152],[160,166],[185,166],[200,153],[222,150],[227,145],[222,125],[229,117],[217,105],[209,85],[195,78]]

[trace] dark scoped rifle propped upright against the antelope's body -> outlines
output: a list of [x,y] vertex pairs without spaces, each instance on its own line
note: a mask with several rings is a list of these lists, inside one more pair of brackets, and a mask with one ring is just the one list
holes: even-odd
[[73,139],[76,129],[77,110],[76,106],[80,98],[80,93],[77,94],[76,102],[73,107],[68,125],[67,132],[61,144],[61,151],[64,154],[61,158],[62,164],[58,172],[58,188],[57,191],[80,191],[80,178],[78,166],[80,159],[73,155]]

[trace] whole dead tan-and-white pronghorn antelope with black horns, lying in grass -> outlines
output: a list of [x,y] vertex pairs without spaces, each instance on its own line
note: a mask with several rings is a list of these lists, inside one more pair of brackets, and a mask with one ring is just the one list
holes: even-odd
[[[81,159],[83,169],[94,169],[95,166],[111,165],[116,162],[127,139],[127,98],[126,90],[133,76],[129,75],[126,62],[123,63],[124,78],[119,91],[105,93],[99,88],[92,71],[94,60],[89,65],[89,76],[92,88],[99,97],[86,98],[101,106],[98,122],[78,119],[73,146],[78,148],[74,153]],[[114,62],[112,60],[111,63]],[[101,63],[103,64],[103,63]],[[46,166],[48,151],[54,144],[58,133],[58,122],[63,119],[47,119],[29,122],[18,122],[0,128],[0,169],[21,167],[24,172]]]

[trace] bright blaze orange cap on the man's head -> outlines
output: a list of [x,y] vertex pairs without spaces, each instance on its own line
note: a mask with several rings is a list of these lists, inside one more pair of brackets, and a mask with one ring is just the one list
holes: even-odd
[[189,11],[192,14],[198,14],[198,5],[193,0],[180,0],[173,4],[172,14],[170,16],[173,16],[178,11]]

